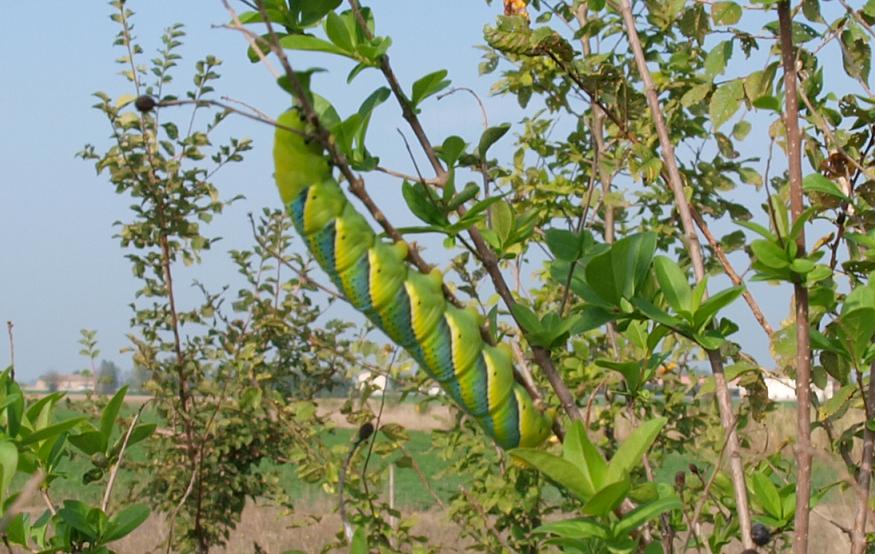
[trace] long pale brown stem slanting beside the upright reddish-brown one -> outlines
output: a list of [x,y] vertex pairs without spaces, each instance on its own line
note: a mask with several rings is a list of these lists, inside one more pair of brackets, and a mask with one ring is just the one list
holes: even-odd
[[[684,194],[683,179],[680,174],[680,169],[678,168],[677,158],[675,157],[674,145],[669,136],[668,126],[662,113],[656,87],[653,83],[653,78],[650,75],[650,69],[647,67],[647,60],[644,56],[644,50],[641,47],[641,40],[638,37],[635,17],[632,14],[632,7],[629,4],[629,0],[620,0],[619,8],[625,23],[626,36],[635,57],[635,64],[638,68],[638,73],[641,76],[641,80],[644,82],[645,96],[650,107],[651,115],[653,116],[657,136],[659,137],[662,159],[668,174],[668,185],[674,194],[675,204],[683,225],[690,261],[693,265],[696,281],[701,282],[705,278],[705,264],[702,258],[702,246],[699,243],[699,237],[696,235],[696,229],[693,226],[689,203]],[[716,350],[707,350],[706,352],[708,354],[708,361],[711,365],[711,371],[714,374],[717,406],[720,411],[720,422],[728,435],[727,449],[730,474],[732,476],[732,484],[735,492],[735,502],[738,512],[739,527],[741,528],[742,544],[745,548],[753,548],[755,545],[750,533],[750,507],[747,498],[747,487],[744,480],[744,465],[741,460],[738,436],[735,432],[732,400],[729,396],[726,375],[723,371],[723,359],[720,353]]]

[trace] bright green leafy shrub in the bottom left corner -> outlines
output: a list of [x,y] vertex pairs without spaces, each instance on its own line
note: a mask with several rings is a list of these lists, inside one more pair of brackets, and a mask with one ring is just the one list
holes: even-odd
[[[0,506],[2,534],[8,545],[39,552],[109,553],[111,543],[139,527],[149,517],[142,504],[109,510],[115,474],[126,448],[145,440],[154,424],[126,423],[119,417],[126,389],[121,389],[100,414],[98,426],[86,417],[57,421],[55,409],[63,398],[52,393],[32,400],[25,397],[12,377],[12,368],[0,374],[3,439],[0,441]],[[87,484],[105,482],[104,501],[91,505],[76,498],[52,498],[52,482],[62,473],[59,462],[76,451],[90,457]],[[109,469],[112,471],[107,471]],[[16,473],[29,477],[23,487],[13,487]],[[46,504],[34,517],[22,511],[24,503],[41,494]]]

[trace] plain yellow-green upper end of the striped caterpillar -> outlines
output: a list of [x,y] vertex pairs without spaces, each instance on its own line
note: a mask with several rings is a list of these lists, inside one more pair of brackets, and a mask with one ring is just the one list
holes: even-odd
[[322,146],[310,140],[306,122],[297,108],[283,113],[274,133],[273,160],[277,187],[288,204],[308,186],[331,177],[331,166]]

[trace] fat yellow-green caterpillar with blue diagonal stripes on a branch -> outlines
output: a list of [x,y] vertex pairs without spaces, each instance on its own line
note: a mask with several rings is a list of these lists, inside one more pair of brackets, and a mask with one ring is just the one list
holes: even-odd
[[332,177],[321,146],[305,140],[297,108],[277,122],[273,156],[280,197],[337,289],[499,446],[540,445],[551,432],[551,417],[514,381],[509,346],[483,342],[482,316],[447,302],[439,270],[421,273],[405,261],[406,243],[377,238]]

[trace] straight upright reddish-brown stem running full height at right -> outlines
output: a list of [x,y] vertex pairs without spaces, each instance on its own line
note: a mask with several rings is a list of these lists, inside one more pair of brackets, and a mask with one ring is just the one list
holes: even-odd
[[[781,62],[784,68],[786,106],[784,127],[787,130],[787,164],[790,181],[790,214],[799,219],[802,198],[802,137],[799,131],[799,98],[796,88],[796,57],[793,51],[793,16],[789,0],[778,2],[778,26],[781,39]],[[805,255],[805,231],[796,238],[797,256]],[[793,549],[808,552],[809,504],[811,498],[811,347],[808,321],[808,289],[794,283],[796,308],[796,518]]]

